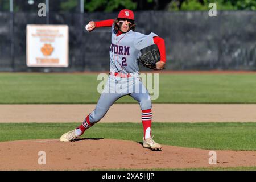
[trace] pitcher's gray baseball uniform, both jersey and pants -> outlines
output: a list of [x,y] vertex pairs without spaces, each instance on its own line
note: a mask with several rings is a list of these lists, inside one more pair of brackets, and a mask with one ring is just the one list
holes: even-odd
[[141,49],[153,45],[153,38],[158,35],[154,33],[144,35],[132,30],[119,36],[115,33],[114,25],[112,25],[112,43],[109,49],[110,72],[134,73],[134,76],[129,78],[109,76],[95,109],[89,114],[91,123],[100,121],[110,106],[126,95],[137,100],[141,110],[151,109],[152,107],[150,95],[139,79],[137,58],[141,55]]

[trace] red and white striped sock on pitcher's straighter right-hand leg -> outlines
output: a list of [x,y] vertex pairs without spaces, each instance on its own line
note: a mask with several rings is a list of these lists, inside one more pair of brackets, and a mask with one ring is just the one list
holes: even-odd
[[142,125],[144,129],[144,139],[151,137],[151,122],[152,122],[152,112],[151,109],[142,110],[141,113]]

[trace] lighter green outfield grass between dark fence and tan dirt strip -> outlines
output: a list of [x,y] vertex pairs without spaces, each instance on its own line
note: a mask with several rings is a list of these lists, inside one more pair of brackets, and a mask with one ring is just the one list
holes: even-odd
[[[96,103],[95,74],[0,73],[0,104]],[[256,103],[256,75],[160,74],[155,103]],[[117,103],[136,103],[125,96]]]

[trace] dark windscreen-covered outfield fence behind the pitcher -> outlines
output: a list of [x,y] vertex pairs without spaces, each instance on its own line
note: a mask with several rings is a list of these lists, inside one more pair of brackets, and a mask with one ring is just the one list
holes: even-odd
[[[26,66],[26,25],[46,24],[47,19],[37,12],[1,11],[0,71],[107,71],[110,28],[87,32],[84,27],[117,14],[50,12],[49,24],[69,26],[69,67],[32,68]],[[208,11],[142,11],[135,12],[135,22],[135,31],[164,38],[166,69],[256,70],[256,11],[218,11],[217,17]]]

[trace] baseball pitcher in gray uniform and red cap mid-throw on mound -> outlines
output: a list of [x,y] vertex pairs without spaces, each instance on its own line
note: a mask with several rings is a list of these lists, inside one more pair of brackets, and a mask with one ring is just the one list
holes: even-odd
[[[144,129],[143,147],[151,150],[161,150],[162,146],[156,143],[151,136],[152,103],[146,87],[139,79],[138,60],[139,57],[142,57],[140,51],[143,48],[156,44],[158,51],[151,51],[149,56],[143,55],[144,57],[141,60],[147,60],[147,57],[154,60],[155,57],[155,61],[149,60],[143,65],[151,69],[163,69],[166,64],[164,39],[152,32],[148,35],[135,32],[134,13],[128,9],[121,10],[117,19],[91,21],[86,25],[86,30],[90,32],[99,27],[112,27],[108,81],[92,113],[87,115],[79,127],[63,134],[60,141],[75,141],[76,138],[84,134],[85,130],[100,121],[115,101],[129,95],[138,101],[141,107]],[[122,92],[118,92],[120,90]]]

